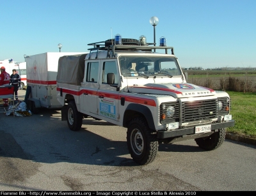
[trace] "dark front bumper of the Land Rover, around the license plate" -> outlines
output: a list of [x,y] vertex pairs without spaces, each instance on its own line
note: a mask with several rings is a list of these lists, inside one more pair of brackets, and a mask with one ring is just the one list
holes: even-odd
[[[235,121],[231,120],[231,121],[227,121],[227,122],[223,122],[223,123],[212,123],[211,124],[211,130],[218,130],[221,128],[227,128],[230,126],[234,126],[235,125]],[[180,128],[177,130],[160,130],[157,131],[157,139],[168,139],[168,138],[172,138],[172,137],[180,137],[180,136],[184,136],[184,135],[192,135],[195,134],[195,126],[190,126],[190,127],[186,127],[186,128]],[[200,134],[200,133],[198,133]]]

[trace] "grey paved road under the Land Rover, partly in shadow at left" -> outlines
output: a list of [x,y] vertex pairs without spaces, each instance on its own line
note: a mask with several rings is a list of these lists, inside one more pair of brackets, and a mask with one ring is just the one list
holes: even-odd
[[153,163],[140,166],[129,155],[125,128],[84,119],[72,132],[60,117],[49,109],[0,114],[0,190],[256,190],[250,144],[226,139],[215,151],[194,140],[163,144]]

